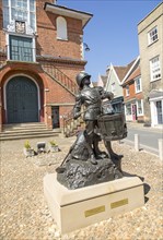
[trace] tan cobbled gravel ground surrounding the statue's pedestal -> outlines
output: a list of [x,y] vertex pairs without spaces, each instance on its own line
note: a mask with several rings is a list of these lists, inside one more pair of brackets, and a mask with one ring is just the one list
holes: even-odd
[[[36,148],[40,140],[30,142]],[[143,179],[145,204],[68,235],[60,235],[46,205],[43,178],[54,172],[74,137],[56,137],[61,152],[26,158],[24,141],[1,142],[1,240],[162,240],[162,163],[155,155],[114,143],[123,170]],[[46,139],[48,144],[48,139]]]

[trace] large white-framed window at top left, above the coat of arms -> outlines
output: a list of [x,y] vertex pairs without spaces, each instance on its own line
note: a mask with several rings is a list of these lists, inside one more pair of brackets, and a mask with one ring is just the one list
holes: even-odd
[[12,21],[24,21],[35,31],[35,0],[3,0],[3,27]]

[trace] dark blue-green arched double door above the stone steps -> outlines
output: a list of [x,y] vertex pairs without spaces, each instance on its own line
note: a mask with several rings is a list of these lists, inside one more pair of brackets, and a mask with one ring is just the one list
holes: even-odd
[[27,76],[14,76],[7,84],[8,123],[38,122],[38,93]]

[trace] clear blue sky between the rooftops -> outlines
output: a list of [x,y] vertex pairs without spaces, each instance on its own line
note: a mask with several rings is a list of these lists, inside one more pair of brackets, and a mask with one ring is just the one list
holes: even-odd
[[57,4],[93,14],[84,28],[85,71],[97,81],[110,62],[125,65],[139,55],[138,23],[161,0],[58,0]]

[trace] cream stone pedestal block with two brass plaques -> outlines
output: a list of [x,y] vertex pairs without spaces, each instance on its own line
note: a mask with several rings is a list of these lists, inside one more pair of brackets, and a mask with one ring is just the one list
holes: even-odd
[[77,190],[68,190],[57,175],[44,178],[44,194],[61,233],[124,214],[144,204],[143,183],[138,177],[124,177]]

